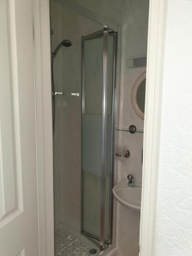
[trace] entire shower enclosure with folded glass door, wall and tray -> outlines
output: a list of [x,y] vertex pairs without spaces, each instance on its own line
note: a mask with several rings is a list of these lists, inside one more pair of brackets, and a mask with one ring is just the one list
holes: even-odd
[[[118,29],[65,2],[50,1],[52,52],[59,46],[52,54],[55,255],[90,255],[114,240]],[[64,38],[70,47],[61,47]]]

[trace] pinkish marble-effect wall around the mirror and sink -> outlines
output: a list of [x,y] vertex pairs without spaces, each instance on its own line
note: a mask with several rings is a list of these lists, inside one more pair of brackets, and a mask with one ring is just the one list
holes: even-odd
[[[121,76],[119,100],[119,127],[129,127],[131,124],[138,129],[143,128],[143,120],[137,116],[131,104],[131,91],[135,80],[146,68],[129,69],[127,59],[146,56],[148,1],[129,2],[129,15],[122,25],[121,45]],[[143,134],[119,132],[120,145],[129,149],[131,156],[124,162],[118,161],[118,181],[133,174],[135,181],[142,181],[142,147]],[[136,256],[139,245],[140,216],[135,212],[117,204],[117,247],[118,255]]]

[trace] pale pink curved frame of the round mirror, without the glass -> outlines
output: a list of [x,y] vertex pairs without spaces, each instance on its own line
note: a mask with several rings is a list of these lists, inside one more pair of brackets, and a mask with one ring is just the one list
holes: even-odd
[[143,72],[138,78],[137,80],[134,82],[133,88],[132,88],[132,92],[131,92],[131,102],[132,102],[132,106],[133,109],[135,111],[135,113],[144,120],[144,113],[141,111],[141,109],[139,108],[138,102],[137,102],[137,90],[140,86],[140,83],[146,79],[146,71]]

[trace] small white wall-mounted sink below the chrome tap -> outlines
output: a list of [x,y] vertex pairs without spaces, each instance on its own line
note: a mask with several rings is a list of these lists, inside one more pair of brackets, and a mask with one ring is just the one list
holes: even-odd
[[127,208],[137,212],[141,210],[141,184],[135,183],[133,187],[127,186],[127,179],[121,181],[113,188],[115,198]]

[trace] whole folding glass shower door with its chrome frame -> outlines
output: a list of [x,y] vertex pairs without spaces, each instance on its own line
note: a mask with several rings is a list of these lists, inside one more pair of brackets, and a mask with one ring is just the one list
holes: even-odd
[[116,33],[104,28],[81,38],[81,232],[111,243]]

